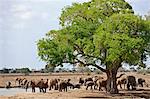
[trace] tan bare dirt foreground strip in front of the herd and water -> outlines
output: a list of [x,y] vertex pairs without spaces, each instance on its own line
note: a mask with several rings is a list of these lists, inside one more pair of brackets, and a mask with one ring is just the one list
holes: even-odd
[[150,99],[150,89],[138,91],[120,91],[110,95],[105,91],[75,89],[68,92],[49,91],[47,93],[22,92],[16,95],[0,96],[0,99]]

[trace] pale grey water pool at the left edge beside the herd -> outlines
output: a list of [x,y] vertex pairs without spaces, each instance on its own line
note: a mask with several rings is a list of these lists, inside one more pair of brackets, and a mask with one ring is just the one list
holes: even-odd
[[[0,96],[12,96],[19,93],[25,93],[25,92],[26,90],[22,88],[10,88],[10,89],[0,88]],[[27,92],[32,93],[31,88],[29,88]],[[36,88],[36,92],[39,92],[38,88]]]

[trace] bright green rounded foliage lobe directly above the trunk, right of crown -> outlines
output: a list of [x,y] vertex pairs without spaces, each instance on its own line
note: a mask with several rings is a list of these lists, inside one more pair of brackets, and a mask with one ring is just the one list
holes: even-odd
[[144,44],[143,39],[135,35],[140,32],[140,21],[132,14],[115,14],[107,18],[94,35],[95,54],[103,54],[106,49],[105,63],[121,58],[127,63],[138,64]]

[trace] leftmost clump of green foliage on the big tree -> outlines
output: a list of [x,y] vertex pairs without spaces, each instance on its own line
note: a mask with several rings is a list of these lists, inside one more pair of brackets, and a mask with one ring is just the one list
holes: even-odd
[[59,32],[56,31],[56,34],[53,33],[51,36],[50,31],[47,38],[38,41],[38,55],[47,64],[60,65],[63,60],[72,61],[73,47],[69,43],[71,38],[65,34],[59,34]]

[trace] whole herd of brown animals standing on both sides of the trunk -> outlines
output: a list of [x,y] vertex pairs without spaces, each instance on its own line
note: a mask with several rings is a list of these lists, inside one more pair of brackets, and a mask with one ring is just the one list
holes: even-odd
[[[80,89],[81,86],[85,86],[86,90],[89,89],[98,89],[99,91],[105,90],[107,92],[106,87],[107,80],[101,76],[94,76],[94,77],[87,77],[83,78],[80,77],[77,83],[74,83],[71,79],[41,79],[41,80],[28,80],[27,78],[16,78],[15,84],[21,88],[25,88],[26,91],[30,87],[32,92],[35,92],[35,88],[39,88],[40,92],[46,93],[46,90],[58,90],[58,91],[65,91],[67,92],[68,89]],[[127,90],[136,90],[137,86],[149,87],[146,83],[145,79],[143,78],[136,78],[135,76],[126,76],[120,77],[117,79],[117,86],[122,89],[122,85],[124,85],[124,89]],[[11,82],[8,82],[6,88],[11,88]]]

